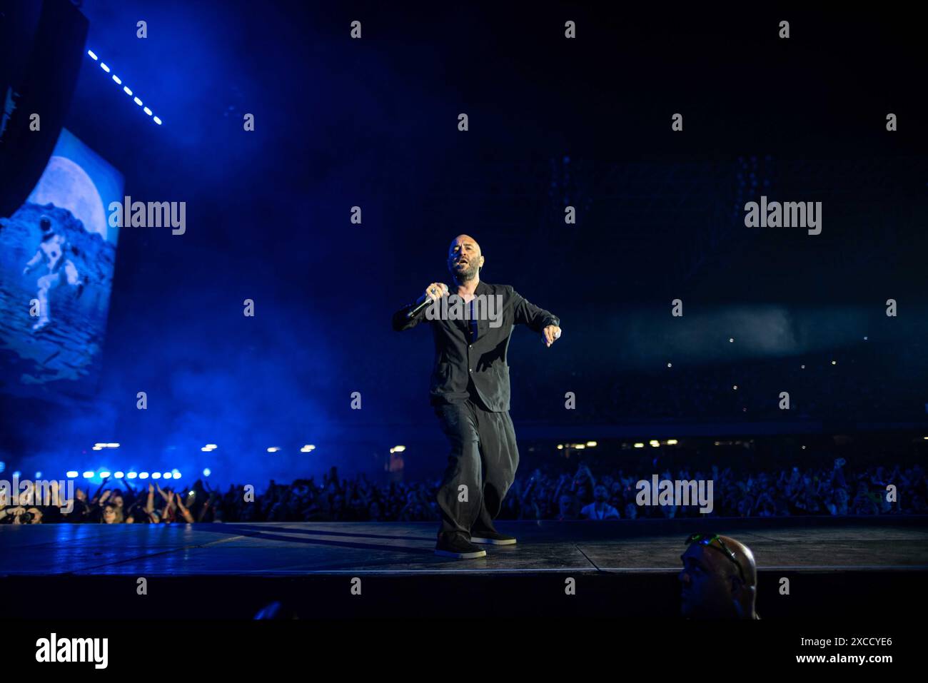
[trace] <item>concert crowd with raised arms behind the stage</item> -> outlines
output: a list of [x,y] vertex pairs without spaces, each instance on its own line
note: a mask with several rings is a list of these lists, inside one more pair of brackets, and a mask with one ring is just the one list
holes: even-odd
[[[844,458],[831,466],[745,469],[712,465],[687,467],[600,466],[551,462],[523,472],[506,496],[499,519],[603,521],[705,516],[697,504],[643,506],[638,481],[713,482],[710,517],[785,517],[794,515],[896,515],[928,513],[925,472],[910,466],[870,466],[848,470]],[[569,470],[565,470],[570,468]],[[20,493],[18,505],[0,499],[0,523],[99,522],[437,522],[439,482],[375,483],[366,474],[342,478],[332,468],[321,482],[301,479],[271,482],[257,494],[253,487],[231,485],[213,490],[206,481],[192,486],[148,483],[135,487],[102,483],[96,492],[75,489],[70,511],[61,492],[57,500],[32,500]],[[894,494],[887,488],[892,484]],[[3,496],[0,496],[2,498]],[[25,501],[25,502],[23,502]],[[50,506],[41,502],[53,502]],[[59,505],[58,505],[59,504]]]

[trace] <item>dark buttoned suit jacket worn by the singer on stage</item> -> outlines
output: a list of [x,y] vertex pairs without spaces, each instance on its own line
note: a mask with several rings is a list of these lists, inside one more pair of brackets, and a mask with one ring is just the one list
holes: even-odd
[[529,303],[510,285],[491,285],[481,280],[474,293],[502,296],[502,313],[497,314],[501,325],[493,328],[490,327],[491,320],[478,320],[475,341],[471,339],[470,320],[430,320],[426,315],[428,307],[418,316],[407,318],[406,314],[415,307],[415,303],[408,303],[393,314],[393,329],[411,329],[420,322],[432,326],[435,363],[429,395],[433,405],[464,401],[473,390],[490,410],[502,412],[509,410],[507,352],[512,329],[522,324],[541,332],[548,325],[560,327],[561,321],[543,308]]

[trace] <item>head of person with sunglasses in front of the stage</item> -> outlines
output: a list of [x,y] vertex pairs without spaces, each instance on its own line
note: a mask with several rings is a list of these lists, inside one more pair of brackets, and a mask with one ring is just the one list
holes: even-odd
[[687,619],[759,619],[751,548],[729,536],[693,534],[680,556],[680,613]]

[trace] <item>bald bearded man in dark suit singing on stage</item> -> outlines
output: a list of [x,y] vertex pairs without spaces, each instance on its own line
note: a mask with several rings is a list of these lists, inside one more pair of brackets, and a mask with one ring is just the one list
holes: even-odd
[[[448,248],[450,291],[432,282],[419,300],[393,314],[393,329],[432,326],[435,361],[430,401],[451,445],[438,490],[442,525],[435,553],[458,560],[485,557],[482,545],[510,546],[494,520],[515,480],[519,449],[509,418],[509,339],[527,325],[546,346],[561,337],[557,316],[509,285],[480,279],[477,240],[458,235]],[[479,544],[479,545],[478,545]]]

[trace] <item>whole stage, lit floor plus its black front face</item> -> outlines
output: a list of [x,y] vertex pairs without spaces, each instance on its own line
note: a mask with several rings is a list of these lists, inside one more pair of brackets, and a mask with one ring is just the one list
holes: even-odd
[[0,525],[0,604],[26,619],[251,619],[272,601],[300,619],[678,619],[683,539],[711,529],[754,550],[765,619],[928,609],[926,518],[497,526],[519,545],[455,561],[433,554],[433,522]]

